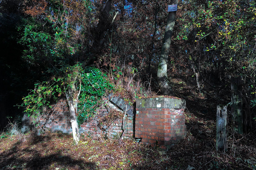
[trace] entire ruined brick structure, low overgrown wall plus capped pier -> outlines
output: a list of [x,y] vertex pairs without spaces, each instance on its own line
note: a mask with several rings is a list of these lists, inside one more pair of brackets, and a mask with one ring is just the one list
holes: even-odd
[[[111,104],[123,111],[125,102],[119,97],[105,98]],[[113,107],[112,106],[112,107]],[[185,137],[186,125],[183,111],[186,101],[171,98],[137,99],[136,114],[133,108],[126,105],[129,112],[125,116],[123,138],[138,138],[146,145],[160,145],[166,149]],[[95,110],[95,116],[80,125],[80,133],[88,137],[119,138],[122,134],[123,117],[108,125],[100,124],[100,119],[108,115],[108,109],[100,107]],[[135,118],[136,117],[136,118]],[[33,123],[32,117],[23,117],[23,131]],[[60,99],[51,108],[47,107],[37,118],[40,128],[72,133],[69,109],[65,99]]]

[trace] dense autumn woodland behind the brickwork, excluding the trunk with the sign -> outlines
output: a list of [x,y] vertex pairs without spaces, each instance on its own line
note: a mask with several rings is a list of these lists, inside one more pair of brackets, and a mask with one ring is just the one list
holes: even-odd
[[[26,109],[38,112],[41,102],[61,97],[76,73],[83,80],[76,81],[83,87],[81,122],[109,92],[130,104],[161,95],[156,74],[170,3],[1,0],[1,130],[6,117],[12,121]],[[191,135],[204,132],[194,128],[200,122],[215,128],[216,105],[230,102],[231,77],[242,77],[244,133],[255,134],[255,22],[253,0],[178,2],[168,77],[176,96],[187,100]]]

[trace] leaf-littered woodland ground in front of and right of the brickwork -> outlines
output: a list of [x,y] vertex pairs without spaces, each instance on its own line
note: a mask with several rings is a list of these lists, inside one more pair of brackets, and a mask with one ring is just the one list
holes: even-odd
[[216,151],[216,105],[227,104],[229,100],[222,90],[199,93],[192,90],[189,82],[181,79],[172,82],[177,96],[187,101],[184,112],[187,135],[169,150],[133,140],[102,138],[81,138],[75,146],[72,135],[48,131],[41,135],[33,131],[17,135],[2,133],[0,170],[256,170],[255,127],[241,135],[228,125],[227,150]]

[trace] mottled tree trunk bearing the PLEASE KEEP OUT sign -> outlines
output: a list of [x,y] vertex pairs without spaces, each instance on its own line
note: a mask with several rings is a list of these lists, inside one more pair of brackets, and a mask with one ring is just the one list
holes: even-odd
[[[174,4],[178,4],[178,0],[175,0]],[[161,93],[163,95],[169,95],[169,96],[174,96],[174,92],[172,90],[172,87],[170,86],[170,82],[167,77],[167,62],[168,62],[170,44],[172,39],[172,31],[175,24],[175,17],[176,17],[176,11],[169,12],[166,29],[165,29],[164,41],[162,45],[162,50],[161,50],[161,55],[159,58],[159,64],[158,64],[158,70],[157,70],[157,80],[158,80],[158,85],[161,89]]]

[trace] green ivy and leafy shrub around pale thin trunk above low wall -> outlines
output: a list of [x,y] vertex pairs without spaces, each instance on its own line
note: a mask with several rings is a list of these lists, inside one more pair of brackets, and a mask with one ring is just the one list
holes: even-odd
[[[76,71],[74,71],[76,70]],[[78,70],[78,72],[77,72]],[[102,104],[102,97],[113,89],[113,85],[106,80],[106,74],[94,67],[82,69],[80,64],[66,67],[61,70],[62,74],[59,77],[52,77],[51,80],[38,82],[35,84],[34,90],[23,98],[21,106],[26,107],[25,112],[28,116],[43,113],[45,106],[51,107],[51,101],[57,101],[62,97],[67,90],[67,87],[73,84],[70,82],[71,77],[79,74],[79,81],[76,81],[76,86],[81,86],[81,92],[78,102],[77,120],[78,124],[82,124],[88,117],[94,114],[95,107]],[[103,103],[104,104],[104,103]]]

